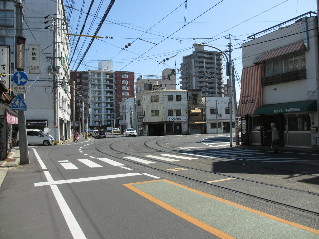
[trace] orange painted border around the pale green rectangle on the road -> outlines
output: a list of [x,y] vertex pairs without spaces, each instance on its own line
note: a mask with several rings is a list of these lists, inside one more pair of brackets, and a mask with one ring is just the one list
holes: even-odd
[[[314,233],[314,234],[317,234],[319,235],[319,230],[316,230],[314,228],[309,228],[309,227],[306,227],[306,226],[303,226],[303,225],[300,225],[298,223],[295,223],[295,222],[292,222],[292,221],[287,221],[285,219],[282,219],[282,218],[279,218],[279,217],[276,217],[276,216],[273,216],[273,215],[270,215],[270,214],[266,214],[266,213],[263,213],[263,212],[260,212],[260,211],[257,211],[255,209],[252,209],[252,208],[249,208],[249,207],[246,207],[246,206],[242,206],[240,204],[237,204],[237,203],[234,203],[234,202],[231,202],[231,201],[228,201],[226,199],[222,199],[222,198],[219,198],[219,197],[216,197],[216,196],[213,196],[211,194],[208,194],[206,192],[201,192],[201,191],[198,191],[196,189],[193,189],[193,188],[190,188],[190,187],[187,187],[187,186],[184,186],[184,185],[181,185],[181,184],[178,184],[178,183],[174,183],[172,181],[169,181],[169,180],[166,180],[166,179],[158,179],[158,180],[152,180],[152,181],[145,181],[145,182],[138,182],[138,183],[130,183],[130,184],[123,184],[124,186],[130,188],[131,190],[133,190],[134,192],[140,194],[141,196],[151,200],[152,202],[158,204],[159,206],[161,207],[164,207],[165,209],[167,209],[168,211],[182,217],[183,219],[197,225],[198,227],[200,228],[203,228],[204,230],[208,231],[208,232],[211,232],[212,234],[214,235],[217,235],[219,236],[220,238],[225,238],[225,239],[228,239],[228,238],[231,238],[231,239],[234,239],[234,237],[230,236],[230,235],[227,235],[226,233],[222,232],[222,231],[219,231],[218,229],[216,228],[213,228],[211,227],[210,225],[202,222],[202,221],[199,221],[197,220],[196,218],[193,218],[191,216],[189,216],[188,214],[185,214],[179,210],[177,210],[176,208],[172,207],[172,206],[169,206],[168,204],[146,194],[145,192],[133,187],[132,185],[134,184],[141,184],[141,183],[149,183],[149,182],[156,182],[156,181],[165,181],[167,183],[170,183],[170,184],[173,184],[173,185],[176,185],[176,186],[179,186],[179,187],[182,187],[182,188],[185,188],[189,191],[192,191],[192,192],[196,192],[198,194],[201,194],[201,195],[204,195],[206,197],[209,197],[211,199],[215,199],[215,200],[218,200],[220,202],[223,202],[223,203],[226,203],[226,204],[229,204],[229,205],[232,205],[232,206],[235,206],[235,207],[238,207],[238,208],[241,208],[243,210],[246,210],[248,212],[251,212],[251,213],[255,213],[257,215],[261,215],[263,217],[267,217],[269,219],[272,219],[272,220],[275,220],[275,221],[278,221],[278,222],[281,222],[281,223],[285,223],[287,225],[290,225],[290,226],[293,226],[293,227],[296,227],[296,228],[300,228],[302,230],[305,230],[305,231],[308,231],[308,232],[311,232],[311,233]],[[223,237],[222,237],[223,235]]]

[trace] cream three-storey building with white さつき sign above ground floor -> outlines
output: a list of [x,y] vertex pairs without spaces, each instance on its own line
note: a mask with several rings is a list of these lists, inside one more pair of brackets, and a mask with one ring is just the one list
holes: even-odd
[[141,96],[142,135],[187,134],[187,91],[153,90]]

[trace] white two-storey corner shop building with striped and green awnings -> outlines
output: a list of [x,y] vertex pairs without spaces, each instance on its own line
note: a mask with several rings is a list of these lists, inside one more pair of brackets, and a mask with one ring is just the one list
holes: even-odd
[[308,16],[256,33],[242,44],[237,115],[245,144],[269,146],[270,123],[275,123],[281,146],[319,145],[318,22]]

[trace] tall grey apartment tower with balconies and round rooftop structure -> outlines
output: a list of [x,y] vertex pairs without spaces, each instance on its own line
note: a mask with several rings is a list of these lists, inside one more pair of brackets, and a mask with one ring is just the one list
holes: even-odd
[[192,54],[183,56],[180,88],[183,90],[202,89],[202,95],[207,97],[226,96],[227,85],[223,82],[222,65],[220,52],[195,47]]

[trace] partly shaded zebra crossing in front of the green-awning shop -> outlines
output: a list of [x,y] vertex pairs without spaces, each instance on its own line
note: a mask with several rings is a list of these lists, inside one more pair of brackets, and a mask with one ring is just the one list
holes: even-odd
[[287,163],[302,161],[293,157],[273,157],[267,156],[266,152],[253,149],[212,149],[212,150],[194,150],[192,153],[182,153],[192,156],[209,156],[210,158],[226,158],[233,160],[251,160],[266,163]]

